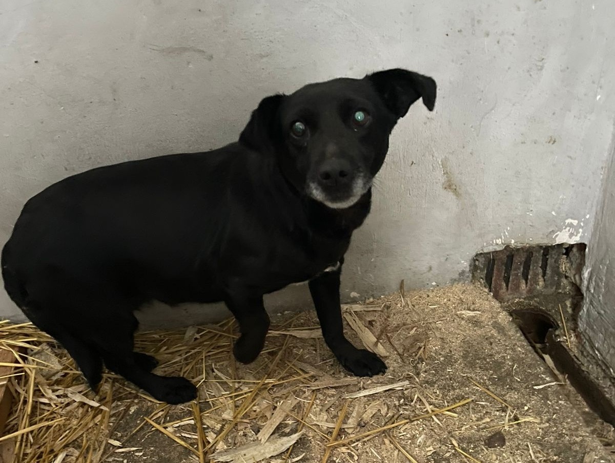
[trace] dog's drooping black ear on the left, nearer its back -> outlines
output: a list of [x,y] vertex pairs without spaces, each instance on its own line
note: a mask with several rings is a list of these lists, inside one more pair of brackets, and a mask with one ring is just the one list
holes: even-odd
[[285,95],[263,98],[252,111],[250,122],[239,136],[239,143],[255,151],[270,151],[280,139],[279,109]]

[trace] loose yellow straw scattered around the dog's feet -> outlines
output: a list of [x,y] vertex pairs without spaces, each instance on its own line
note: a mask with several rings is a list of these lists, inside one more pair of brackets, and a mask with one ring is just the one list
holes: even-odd
[[[381,355],[395,352],[390,358],[397,361],[414,362],[419,355],[426,355],[426,341],[419,354],[416,350],[408,354],[408,346],[402,346],[403,336],[396,337],[393,328],[389,332],[389,325],[384,324],[386,332],[383,325],[372,330],[366,320],[380,315],[386,304],[400,312],[415,310],[415,298],[402,286],[392,298],[344,307],[347,330],[354,330],[354,338],[362,339],[367,349]],[[407,333],[420,329],[412,326]],[[53,339],[29,323],[0,322],[0,350],[7,352],[0,361],[0,368],[5,368],[0,381],[6,382],[6,393],[14,398],[0,446],[10,449],[15,463],[98,463],[130,454],[137,457],[147,451],[137,437],[156,435],[198,463],[246,458],[291,462],[302,457],[297,455],[301,453],[298,448],[305,446],[296,444],[301,438],[302,442],[309,439],[311,451],[327,462],[343,453],[356,454],[365,441],[379,438],[381,445],[416,463],[423,457],[413,456],[416,448],[409,436],[421,425],[439,420],[440,427],[443,423],[462,427],[462,419],[470,420],[472,414],[468,412],[472,398],[457,397],[456,402],[446,405],[452,401],[434,399],[412,374],[359,379],[335,371],[339,366],[329,352],[319,350],[325,349],[319,347],[324,346],[323,340],[314,319],[308,316],[287,317],[286,322],[277,323],[260,360],[248,369],[234,362],[234,339],[232,320],[138,333],[135,349],[161,361],[157,373],[181,374],[199,386],[197,401],[171,407],[109,373],[103,375],[95,394]],[[311,351],[309,358],[303,351],[307,345],[316,346],[316,353]],[[534,421],[518,417],[508,421],[510,405],[470,381],[506,409],[504,424],[489,429]],[[413,396],[415,401],[404,413],[395,410],[389,400]],[[426,397],[440,405],[429,405]],[[133,406],[138,406],[133,427],[121,429],[130,422]],[[501,410],[497,413],[498,417],[504,415]],[[365,448],[372,448],[373,443]],[[479,461],[470,456],[472,449],[464,450],[456,443],[446,445],[469,461]]]

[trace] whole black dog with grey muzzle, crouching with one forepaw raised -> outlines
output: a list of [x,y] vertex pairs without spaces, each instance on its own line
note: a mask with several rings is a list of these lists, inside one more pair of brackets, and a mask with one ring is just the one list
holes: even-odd
[[263,295],[309,280],[327,345],[357,376],[383,373],[345,337],[339,275],[370,212],[371,181],[397,120],[431,77],[404,69],[306,85],[264,98],[239,143],[95,168],[30,199],[2,250],[10,298],[76,360],[92,389],[103,362],[167,403],[196,397],[133,352],[148,301],[224,301],[239,322],[239,362],[263,349]]

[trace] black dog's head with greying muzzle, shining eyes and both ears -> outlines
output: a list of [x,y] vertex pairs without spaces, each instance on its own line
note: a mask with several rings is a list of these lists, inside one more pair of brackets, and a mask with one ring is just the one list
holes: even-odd
[[264,98],[239,141],[274,154],[300,194],[350,207],[371,188],[397,120],[419,98],[432,111],[435,89],[434,79],[405,69],[306,85]]

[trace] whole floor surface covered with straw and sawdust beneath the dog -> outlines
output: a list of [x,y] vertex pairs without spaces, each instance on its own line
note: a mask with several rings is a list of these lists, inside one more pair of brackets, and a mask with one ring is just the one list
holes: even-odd
[[0,444],[23,463],[613,461],[611,427],[571,405],[576,393],[482,288],[402,290],[345,306],[344,319],[385,375],[343,371],[313,311],[273,316],[251,365],[232,357],[232,320],[138,334],[157,373],[199,384],[199,402],[180,406],[112,374],[95,395],[47,336],[0,325],[0,347],[30,347]]

